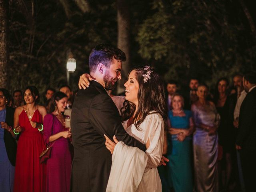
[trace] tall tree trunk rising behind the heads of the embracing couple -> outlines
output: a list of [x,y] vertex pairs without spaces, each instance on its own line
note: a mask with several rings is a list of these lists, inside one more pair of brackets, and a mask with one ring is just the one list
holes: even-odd
[[117,94],[124,92],[124,83],[130,71],[130,6],[128,0],[117,0],[117,47],[126,55],[126,61],[122,63],[122,79],[118,81]]

